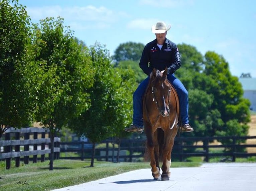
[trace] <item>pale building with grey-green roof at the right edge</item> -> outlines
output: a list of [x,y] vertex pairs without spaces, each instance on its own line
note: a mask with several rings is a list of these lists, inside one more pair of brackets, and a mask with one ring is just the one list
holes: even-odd
[[256,78],[239,78],[244,90],[244,98],[251,102],[250,109],[256,111]]

